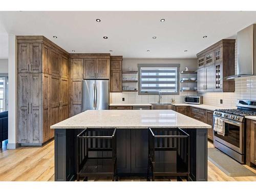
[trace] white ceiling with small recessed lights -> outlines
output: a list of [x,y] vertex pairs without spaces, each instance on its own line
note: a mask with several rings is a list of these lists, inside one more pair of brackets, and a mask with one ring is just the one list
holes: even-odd
[[[0,12],[0,22],[9,34],[44,35],[70,53],[113,50],[112,55],[124,58],[194,58],[218,40],[256,23],[256,12],[17,11]],[[8,51],[2,53],[6,43],[0,40],[0,58],[8,57]]]

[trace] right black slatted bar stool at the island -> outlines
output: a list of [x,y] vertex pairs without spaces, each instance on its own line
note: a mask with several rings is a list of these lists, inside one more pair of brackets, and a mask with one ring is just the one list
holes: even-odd
[[147,180],[155,177],[180,177],[189,179],[190,148],[189,135],[172,127],[149,128]]

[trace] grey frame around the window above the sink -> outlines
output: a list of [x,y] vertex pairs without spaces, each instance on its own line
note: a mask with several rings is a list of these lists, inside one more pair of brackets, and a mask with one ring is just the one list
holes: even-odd
[[177,92],[176,93],[164,93],[161,92],[161,95],[180,95],[180,64],[138,64],[138,95],[159,95],[159,93],[148,93],[141,92],[141,67],[176,67],[177,68]]

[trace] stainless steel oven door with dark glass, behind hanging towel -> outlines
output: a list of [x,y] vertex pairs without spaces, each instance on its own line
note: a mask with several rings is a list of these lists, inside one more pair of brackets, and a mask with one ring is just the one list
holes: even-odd
[[219,141],[240,154],[244,154],[244,123],[224,118],[220,119],[224,120],[225,136],[219,135],[214,131],[214,140]]

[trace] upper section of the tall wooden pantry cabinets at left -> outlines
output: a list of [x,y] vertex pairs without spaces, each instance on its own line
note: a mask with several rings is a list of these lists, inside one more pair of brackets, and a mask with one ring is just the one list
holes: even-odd
[[69,53],[44,36],[17,36],[18,73],[46,73],[68,78]]

